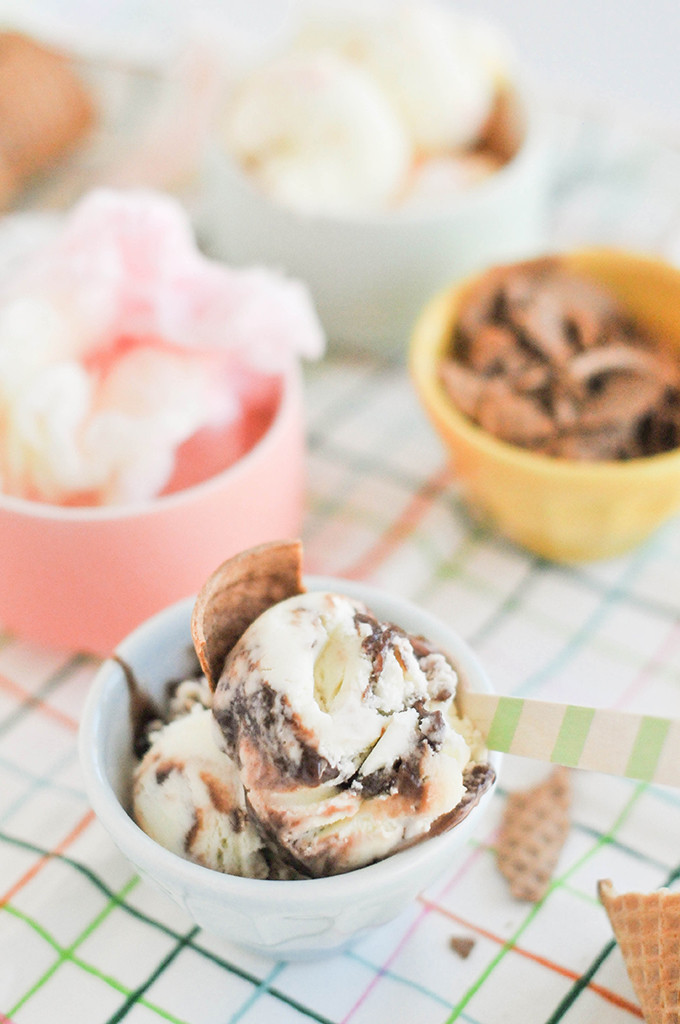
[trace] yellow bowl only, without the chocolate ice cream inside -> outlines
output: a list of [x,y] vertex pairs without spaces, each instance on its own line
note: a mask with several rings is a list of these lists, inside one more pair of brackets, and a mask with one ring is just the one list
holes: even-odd
[[[680,270],[605,249],[560,255],[606,285],[631,314],[680,352]],[[470,279],[435,296],[416,323],[410,370],[450,450],[471,508],[510,540],[546,558],[581,561],[628,551],[680,509],[680,449],[627,462],[537,455],[475,426],[448,397],[438,369]]]

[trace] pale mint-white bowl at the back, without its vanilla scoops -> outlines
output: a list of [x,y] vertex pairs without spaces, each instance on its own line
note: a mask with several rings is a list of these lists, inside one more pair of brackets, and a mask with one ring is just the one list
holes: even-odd
[[306,215],[272,202],[216,145],[206,156],[197,229],[211,255],[305,281],[331,350],[406,350],[425,301],[488,263],[546,242],[549,147],[542,113],[521,101],[524,139],[499,171],[427,212]]

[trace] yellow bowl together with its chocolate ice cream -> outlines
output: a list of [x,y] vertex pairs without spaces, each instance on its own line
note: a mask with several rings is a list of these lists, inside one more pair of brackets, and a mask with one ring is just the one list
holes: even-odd
[[597,249],[432,298],[411,373],[473,513],[559,561],[615,556],[672,517],[679,311],[677,268]]

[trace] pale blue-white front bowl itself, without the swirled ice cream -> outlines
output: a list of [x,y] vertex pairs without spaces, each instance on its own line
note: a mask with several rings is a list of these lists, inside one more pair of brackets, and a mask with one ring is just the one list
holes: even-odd
[[[439,645],[471,689],[491,690],[474,653],[458,634],[407,601],[364,584],[308,578],[308,589],[358,597],[381,618]],[[172,605],[118,648],[139,684],[160,695],[165,683],[196,667],[189,623],[194,599]],[[346,874],[269,882],[221,874],[170,853],[128,815],[132,773],[128,692],[120,666],[99,670],[80,728],[80,756],[92,806],[119,849],[207,932],[259,953],[291,959],[338,950],[383,925],[454,863],[483,820],[492,790],[451,831]],[[499,758],[491,756],[497,772]]]

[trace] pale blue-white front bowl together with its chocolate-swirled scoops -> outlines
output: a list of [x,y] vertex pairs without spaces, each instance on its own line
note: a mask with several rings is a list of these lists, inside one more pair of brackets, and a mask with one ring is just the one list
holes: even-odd
[[249,606],[226,655],[217,637],[212,692],[196,599],[138,628],[93,683],[81,762],[120,850],[198,925],[318,956],[394,918],[464,852],[499,761],[455,691],[491,685],[455,630],[390,594],[303,578],[270,599]]

